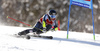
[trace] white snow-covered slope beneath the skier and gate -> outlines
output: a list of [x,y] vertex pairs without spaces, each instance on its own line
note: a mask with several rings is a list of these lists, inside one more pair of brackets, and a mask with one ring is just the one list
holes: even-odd
[[16,38],[12,35],[29,29],[24,27],[0,26],[0,51],[100,51],[100,35],[67,31],[47,32],[42,35],[53,36],[54,39],[31,38],[30,40]]

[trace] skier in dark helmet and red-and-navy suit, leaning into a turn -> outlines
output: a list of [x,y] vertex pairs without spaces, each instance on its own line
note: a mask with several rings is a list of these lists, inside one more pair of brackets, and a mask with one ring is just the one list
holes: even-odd
[[[47,32],[49,30],[58,30],[58,26],[56,23],[56,11],[50,10],[47,14],[45,14],[42,18],[38,20],[38,22],[35,24],[33,29],[27,29],[22,32],[19,32],[18,35],[26,35],[28,33],[34,33],[39,35],[41,33]],[[54,28],[52,28],[52,26]]]

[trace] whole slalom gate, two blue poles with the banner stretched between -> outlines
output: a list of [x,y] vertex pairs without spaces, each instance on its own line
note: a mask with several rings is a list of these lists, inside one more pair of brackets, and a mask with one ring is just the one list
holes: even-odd
[[94,27],[94,15],[93,15],[93,3],[92,0],[70,0],[70,5],[69,5],[69,14],[68,14],[68,24],[67,24],[67,39],[68,39],[68,34],[69,34],[69,23],[70,23],[70,10],[71,10],[71,5],[78,5],[81,7],[89,8],[92,11],[92,24],[93,24],[93,38],[95,40],[95,27]]

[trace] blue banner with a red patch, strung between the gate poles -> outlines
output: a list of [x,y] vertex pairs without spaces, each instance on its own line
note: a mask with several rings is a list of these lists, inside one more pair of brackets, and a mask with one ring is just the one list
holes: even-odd
[[93,9],[92,0],[71,0],[71,5]]

